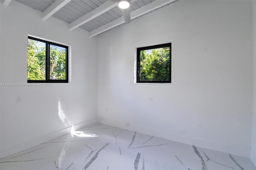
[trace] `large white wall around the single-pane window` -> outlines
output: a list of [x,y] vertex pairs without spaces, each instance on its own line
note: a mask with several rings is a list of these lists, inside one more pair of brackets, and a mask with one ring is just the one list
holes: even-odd
[[[250,157],[251,6],[182,0],[97,36],[98,121]],[[134,84],[136,47],[167,42],[172,84]]]

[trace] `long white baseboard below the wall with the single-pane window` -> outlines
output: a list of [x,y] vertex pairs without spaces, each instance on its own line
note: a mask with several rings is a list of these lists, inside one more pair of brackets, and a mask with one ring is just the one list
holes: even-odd
[[131,125],[131,124],[126,124],[126,123],[121,123],[121,122],[115,122],[115,121],[110,121],[107,119],[102,119],[98,118],[99,123],[103,123],[106,125],[114,126],[114,127],[119,127],[122,129],[128,129],[130,131],[136,131],[139,133],[144,133],[147,135],[152,135],[156,137],[161,137],[164,139],[180,142],[180,143],[185,143],[188,145],[195,145],[197,147],[202,147],[206,149],[212,149],[212,150],[217,150],[220,152],[225,152],[225,153],[230,153],[238,156],[244,156],[247,158],[250,158],[250,148],[248,149],[245,148],[240,148],[236,146],[230,146],[230,145],[225,145],[221,143],[214,143],[212,141],[205,141],[202,139],[196,139],[184,135],[178,135],[178,134],[172,134],[164,131],[157,131],[155,129],[147,129],[144,127],[136,126],[136,125]]

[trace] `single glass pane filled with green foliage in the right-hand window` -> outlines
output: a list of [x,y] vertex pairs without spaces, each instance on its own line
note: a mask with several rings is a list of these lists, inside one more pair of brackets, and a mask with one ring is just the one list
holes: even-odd
[[170,47],[140,51],[140,81],[170,80]]

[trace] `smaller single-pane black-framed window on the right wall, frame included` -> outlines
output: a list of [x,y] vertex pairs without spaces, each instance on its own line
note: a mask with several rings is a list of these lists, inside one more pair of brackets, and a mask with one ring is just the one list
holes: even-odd
[[137,48],[137,83],[171,82],[171,43]]

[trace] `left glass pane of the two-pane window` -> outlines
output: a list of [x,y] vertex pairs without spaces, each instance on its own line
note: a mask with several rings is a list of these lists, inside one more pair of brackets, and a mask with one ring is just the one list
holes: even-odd
[[45,80],[46,43],[28,39],[28,80]]

